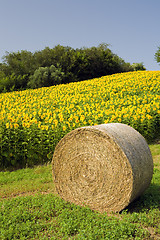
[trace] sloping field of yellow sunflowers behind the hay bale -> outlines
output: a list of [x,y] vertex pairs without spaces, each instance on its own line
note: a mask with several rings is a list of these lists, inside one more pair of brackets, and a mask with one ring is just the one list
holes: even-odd
[[132,126],[147,141],[158,135],[160,71],[1,93],[0,169],[49,162],[66,133],[111,122]]

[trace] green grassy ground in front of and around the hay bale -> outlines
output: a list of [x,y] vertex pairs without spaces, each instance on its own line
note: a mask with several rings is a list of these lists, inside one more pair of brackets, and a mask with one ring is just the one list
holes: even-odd
[[160,239],[160,145],[150,145],[150,187],[119,214],[60,199],[51,164],[0,172],[0,239]]

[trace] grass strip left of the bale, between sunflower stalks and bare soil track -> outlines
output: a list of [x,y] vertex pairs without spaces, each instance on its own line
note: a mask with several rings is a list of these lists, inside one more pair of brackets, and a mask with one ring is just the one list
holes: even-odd
[[51,164],[13,172],[0,172],[0,198],[53,192]]

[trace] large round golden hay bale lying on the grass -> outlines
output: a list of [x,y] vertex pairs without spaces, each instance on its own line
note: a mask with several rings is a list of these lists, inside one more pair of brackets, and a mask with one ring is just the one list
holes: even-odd
[[77,128],[56,146],[57,193],[99,212],[119,212],[150,185],[153,160],[140,133],[121,123]]

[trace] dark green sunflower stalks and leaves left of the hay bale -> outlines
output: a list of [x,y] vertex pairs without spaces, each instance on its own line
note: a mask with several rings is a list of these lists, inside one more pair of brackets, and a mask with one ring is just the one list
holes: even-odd
[[32,167],[51,161],[58,139],[52,130],[37,127],[0,129],[0,170],[5,168]]

